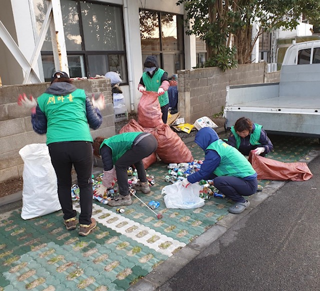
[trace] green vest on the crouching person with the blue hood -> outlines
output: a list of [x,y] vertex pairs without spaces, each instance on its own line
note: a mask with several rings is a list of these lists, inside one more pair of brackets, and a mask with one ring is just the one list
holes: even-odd
[[215,150],[221,158],[220,164],[213,171],[217,176],[245,178],[255,173],[248,160],[234,147],[218,139],[206,148]]

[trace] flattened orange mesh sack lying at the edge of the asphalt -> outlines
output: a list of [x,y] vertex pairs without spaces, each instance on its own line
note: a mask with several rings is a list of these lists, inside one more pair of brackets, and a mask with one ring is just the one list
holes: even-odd
[[312,173],[306,163],[283,163],[257,155],[249,154],[249,162],[258,175],[258,179],[276,181],[306,181]]

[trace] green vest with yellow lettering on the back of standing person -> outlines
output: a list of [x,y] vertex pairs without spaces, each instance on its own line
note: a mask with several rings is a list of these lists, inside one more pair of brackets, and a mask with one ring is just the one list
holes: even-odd
[[84,90],[76,89],[65,96],[43,93],[37,103],[47,120],[46,144],[93,141],[86,119]]

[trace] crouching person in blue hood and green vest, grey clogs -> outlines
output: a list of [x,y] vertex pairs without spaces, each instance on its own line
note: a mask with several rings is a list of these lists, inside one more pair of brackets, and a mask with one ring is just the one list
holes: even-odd
[[250,204],[242,196],[249,196],[257,190],[257,174],[247,159],[234,147],[219,139],[214,129],[200,129],[194,142],[204,150],[205,156],[199,171],[191,174],[182,185],[202,179],[214,179],[214,186],[235,203],[229,207],[231,213],[241,213]]

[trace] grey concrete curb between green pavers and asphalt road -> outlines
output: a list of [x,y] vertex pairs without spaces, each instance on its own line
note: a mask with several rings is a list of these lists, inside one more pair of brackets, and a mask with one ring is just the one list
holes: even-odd
[[[320,155],[320,150],[311,151],[300,162],[309,163],[315,157]],[[212,242],[222,236],[233,224],[244,219],[252,210],[254,210],[266,198],[275,193],[287,181],[271,181],[262,192],[250,196],[250,206],[240,214],[228,213],[220,221],[208,228],[204,233],[199,235],[192,242],[184,246],[178,252],[174,253],[164,262],[140,279],[136,284],[128,288],[129,291],[154,291],[163,285],[168,279],[173,277],[184,265],[189,263],[198,254],[204,251]]]

